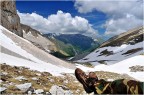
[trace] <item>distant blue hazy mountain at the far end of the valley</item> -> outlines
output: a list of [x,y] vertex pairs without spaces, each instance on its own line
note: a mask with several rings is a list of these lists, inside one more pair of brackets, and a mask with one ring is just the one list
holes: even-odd
[[81,49],[81,51],[88,50],[92,47],[99,46],[99,43],[96,42],[94,39],[88,36],[84,36],[81,34],[61,34],[55,36],[56,39],[63,41],[64,43],[70,43],[73,46],[77,46]]

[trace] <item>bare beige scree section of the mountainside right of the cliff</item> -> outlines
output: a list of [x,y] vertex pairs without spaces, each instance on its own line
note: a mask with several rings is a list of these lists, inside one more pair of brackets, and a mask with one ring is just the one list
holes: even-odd
[[21,28],[23,31],[23,38],[32,42],[38,48],[48,53],[56,52],[58,50],[55,43],[43,37],[39,31],[24,24],[21,24]]

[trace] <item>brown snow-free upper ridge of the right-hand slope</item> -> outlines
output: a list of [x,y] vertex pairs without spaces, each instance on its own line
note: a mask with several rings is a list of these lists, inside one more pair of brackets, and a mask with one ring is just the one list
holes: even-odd
[[121,46],[122,44],[134,45],[143,41],[143,26],[131,29],[125,33],[114,36],[104,42],[100,47]]

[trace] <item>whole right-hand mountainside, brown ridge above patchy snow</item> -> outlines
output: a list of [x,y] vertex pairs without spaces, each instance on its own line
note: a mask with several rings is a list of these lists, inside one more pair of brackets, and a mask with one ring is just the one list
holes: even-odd
[[135,28],[110,38],[94,52],[77,62],[89,62],[94,65],[117,63],[143,54],[143,42],[143,27]]

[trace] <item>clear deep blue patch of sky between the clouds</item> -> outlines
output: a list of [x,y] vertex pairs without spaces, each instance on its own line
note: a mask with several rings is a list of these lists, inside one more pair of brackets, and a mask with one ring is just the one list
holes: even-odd
[[58,10],[62,10],[63,12],[71,13],[72,16],[86,18],[93,25],[94,29],[99,30],[100,34],[103,34],[105,31],[104,28],[99,27],[107,19],[104,13],[98,11],[88,14],[79,13],[75,9],[73,1],[17,1],[16,6],[17,10],[22,13],[36,12],[45,18],[51,14],[56,14]]

